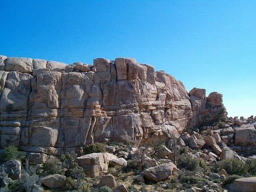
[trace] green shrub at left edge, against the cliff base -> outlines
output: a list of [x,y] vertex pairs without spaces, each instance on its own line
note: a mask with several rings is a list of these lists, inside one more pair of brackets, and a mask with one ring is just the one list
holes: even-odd
[[23,152],[18,151],[18,148],[14,145],[10,145],[4,148],[4,153],[0,154],[0,161],[6,162],[9,160],[21,161],[25,157]]

